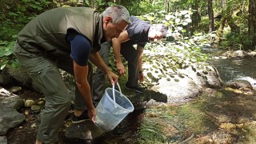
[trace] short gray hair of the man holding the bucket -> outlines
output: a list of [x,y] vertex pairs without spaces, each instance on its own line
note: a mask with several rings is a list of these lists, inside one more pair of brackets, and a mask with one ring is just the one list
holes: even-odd
[[103,17],[110,16],[113,19],[113,24],[119,24],[122,21],[131,24],[129,11],[125,6],[115,5],[106,8],[102,13]]

